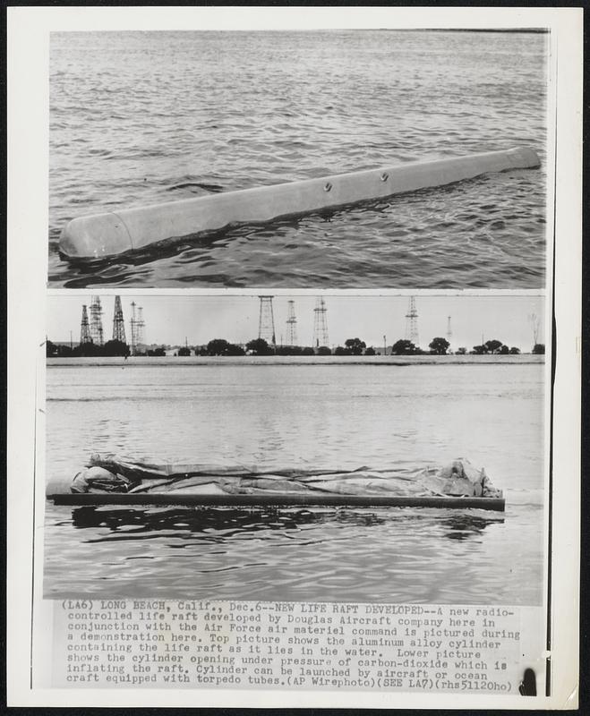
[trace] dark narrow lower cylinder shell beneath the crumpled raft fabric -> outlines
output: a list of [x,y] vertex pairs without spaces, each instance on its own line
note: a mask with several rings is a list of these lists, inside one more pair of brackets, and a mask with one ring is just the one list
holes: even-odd
[[203,495],[173,492],[84,492],[47,495],[55,505],[177,505],[182,507],[447,507],[488,509],[504,512],[500,498],[391,497],[386,495],[298,494]]

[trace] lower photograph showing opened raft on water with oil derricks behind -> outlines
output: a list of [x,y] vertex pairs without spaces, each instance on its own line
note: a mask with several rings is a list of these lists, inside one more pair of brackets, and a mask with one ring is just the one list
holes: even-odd
[[543,307],[50,294],[45,598],[542,605]]

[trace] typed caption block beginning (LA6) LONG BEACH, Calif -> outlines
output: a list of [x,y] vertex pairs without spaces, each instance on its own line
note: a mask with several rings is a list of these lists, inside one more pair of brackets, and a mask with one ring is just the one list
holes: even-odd
[[243,601],[54,603],[54,687],[515,694],[517,607]]

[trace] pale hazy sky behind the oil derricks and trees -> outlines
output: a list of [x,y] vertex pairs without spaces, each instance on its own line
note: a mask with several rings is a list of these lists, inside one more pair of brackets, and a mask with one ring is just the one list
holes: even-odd
[[[82,303],[90,305],[93,294],[59,294],[47,299],[47,337],[57,342],[80,340]],[[112,337],[114,294],[100,294],[105,338]],[[312,345],[314,295],[276,295],[273,313],[277,343],[286,343],[287,300],[295,300],[299,345]],[[131,303],[143,307],[147,344],[189,345],[227,338],[245,343],[258,337],[260,301],[248,295],[122,295],[127,341],[131,338]],[[325,295],[329,345],[342,345],[359,337],[379,348],[383,336],[391,345],[406,337],[408,296]],[[538,340],[544,342],[544,299],[541,296],[417,295],[419,344],[426,348],[433,337],[447,337],[451,317],[451,347],[473,345],[498,338],[510,346],[530,351],[533,345],[531,314],[537,316]]]

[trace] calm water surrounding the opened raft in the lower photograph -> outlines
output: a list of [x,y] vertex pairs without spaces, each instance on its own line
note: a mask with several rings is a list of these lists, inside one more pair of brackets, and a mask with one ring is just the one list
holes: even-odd
[[543,365],[47,370],[47,482],[92,452],[346,469],[484,466],[505,513],[56,507],[44,593],[541,604]]

